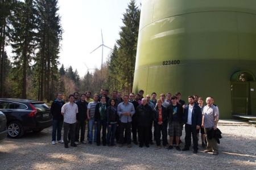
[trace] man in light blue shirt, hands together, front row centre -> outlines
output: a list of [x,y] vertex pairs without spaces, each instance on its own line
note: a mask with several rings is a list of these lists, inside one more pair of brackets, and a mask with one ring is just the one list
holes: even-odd
[[123,96],[123,102],[118,104],[117,113],[120,117],[119,126],[119,141],[123,146],[123,131],[127,135],[127,145],[131,147],[131,117],[135,113],[135,109],[132,103],[128,102],[128,95]]

